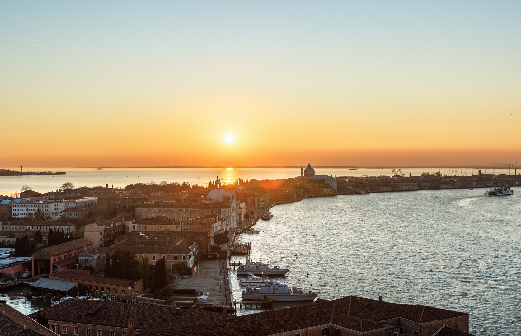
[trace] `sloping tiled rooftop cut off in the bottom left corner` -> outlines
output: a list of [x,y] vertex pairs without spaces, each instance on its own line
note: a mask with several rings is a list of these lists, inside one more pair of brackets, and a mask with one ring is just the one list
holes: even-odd
[[[35,313],[38,316],[38,313]],[[36,318],[36,317],[35,317]],[[28,316],[0,301],[0,335],[2,336],[56,336]]]

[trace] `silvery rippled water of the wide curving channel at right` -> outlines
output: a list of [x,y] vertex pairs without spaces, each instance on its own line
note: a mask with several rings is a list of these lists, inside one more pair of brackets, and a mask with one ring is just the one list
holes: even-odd
[[319,297],[382,295],[469,313],[476,335],[521,334],[521,188],[513,189],[309,198],[275,206],[260,234],[240,239],[252,242],[254,260],[289,267],[282,281],[313,283]]

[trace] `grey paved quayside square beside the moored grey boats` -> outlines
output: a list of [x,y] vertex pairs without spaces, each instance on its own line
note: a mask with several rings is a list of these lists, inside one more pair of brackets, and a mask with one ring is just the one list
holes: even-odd
[[[228,297],[223,261],[226,263],[226,260],[203,260],[195,275],[178,278],[170,286],[172,289],[199,289],[204,295],[208,292],[208,303],[220,307]],[[219,269],[222,269],[222,273]]]

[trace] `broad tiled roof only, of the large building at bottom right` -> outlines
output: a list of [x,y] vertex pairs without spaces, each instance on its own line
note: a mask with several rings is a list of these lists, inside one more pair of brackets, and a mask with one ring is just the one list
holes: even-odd
[[[187,327],[155,330],[146,336],[218,336],[222,330],[238,335],[266,336],[293,332],[316,326],[333,325],[357,332],[384,330],[379,321],[401,317],[415,322],[428,322],[468,315],[453,310],[424,305],[407,305],[347,296],[338,300],[317,300],[314,304],[243,315],[213,323],[200,323]],[[269,323],[266,323],[269,321]],[[450,330],[449,330],[450,331]],[[439,336],[466,336],[463,334],[439,334]]]

